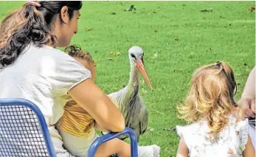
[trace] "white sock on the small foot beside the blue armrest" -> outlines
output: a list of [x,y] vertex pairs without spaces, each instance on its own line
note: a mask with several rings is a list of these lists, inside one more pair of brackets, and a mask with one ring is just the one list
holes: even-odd
[[160,147],[158,145],[139,146],[138,157],[159,157]]

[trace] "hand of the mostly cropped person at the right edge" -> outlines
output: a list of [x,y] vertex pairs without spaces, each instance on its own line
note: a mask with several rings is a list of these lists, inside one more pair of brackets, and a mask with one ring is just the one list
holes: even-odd
[[245,117],[255,118],[255,98],[252,96],[245,96],[241,98],[238,105],[241,106],[245,112]]

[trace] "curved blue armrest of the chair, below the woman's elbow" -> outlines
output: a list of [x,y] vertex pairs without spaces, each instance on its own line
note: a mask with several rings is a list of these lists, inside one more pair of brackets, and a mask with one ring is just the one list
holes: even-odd
[[97,139],[95,139],[94,142],[89,147],[88,157],[94,157],[94,155],[97,151],[97,148],[104,142],[107,142],[111,139],[115,139],[124,134],[128,134],[128,136],[130,137],[130,140],[131,140],[131,157],[137,157],[138,156],[138,145],[137,145],[136,134],[134,133],[133,130],[131,130],[131,128],[127,128],[127,127],[122,132],[108,133],[108,134],[105,134],[105,135],[100,136]]

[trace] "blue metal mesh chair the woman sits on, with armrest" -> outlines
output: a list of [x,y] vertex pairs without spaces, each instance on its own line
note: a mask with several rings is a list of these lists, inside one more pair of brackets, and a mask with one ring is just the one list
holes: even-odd
[[[97,138],[89,147],[88,157],[108,140],[128,134],[131,157],[137,157],[136,134],[130,128]],[[55,150],[41,110],[24,99],[0,99],[0,156],[55,157]]]

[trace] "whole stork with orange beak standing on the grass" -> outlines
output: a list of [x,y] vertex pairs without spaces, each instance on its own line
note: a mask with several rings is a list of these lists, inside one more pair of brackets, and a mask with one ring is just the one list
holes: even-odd
[[122,90],[108,95],[124,116],[125,126],[133,129],[136,133],[138,142],[139,135],[144,134],[148,126],[148,110],[139,96],[139,72],[142,73],[148,86],[152,89],[151,81],[143,64],[143,56],[144,52],[138,46],[133,46],[128,50],[131,65],[128,85]]

